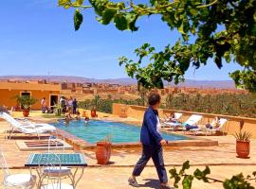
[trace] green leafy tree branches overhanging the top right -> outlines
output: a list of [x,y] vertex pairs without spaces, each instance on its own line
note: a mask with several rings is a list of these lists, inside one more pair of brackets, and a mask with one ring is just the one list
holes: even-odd
[[[137,60],[119,58],[129,77],[136,77],[145,88],[162,88],[163,80],[184,80],[193,65],[199,68],[213,59],[221,68],[223,61],[240,64],[243,70],[230,73],[237,87],[256,92],[256,1],[255,0],[150,0],[133,1],[59,0],[65,9],[75,8],[74,24],[82,24],[83,9],[94,9],[102,25],[114,23],[119,30],[137,31],[137,19],[158,14],[171,30],[177,29],[182,38],[173,46],[167,44],[156,52],[144,43],[135,50]],[[194,42],[192,37],[195,38]],[[145,66],[143,61],[149,61]]]

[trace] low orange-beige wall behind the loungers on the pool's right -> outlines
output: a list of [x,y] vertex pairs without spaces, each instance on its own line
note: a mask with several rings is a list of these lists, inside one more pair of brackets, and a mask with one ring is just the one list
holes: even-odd
[[[141,107],[141,106],[129,106],[129,105],[123,105],[123,104],[113,104],[113,114],[120,115],[121,109],[125,110],[128,117],[134,117],[139,120],[143,119],[143,114],[147,107]],[[166,110],[166,109],[160,109],[159,110],[159,116],[164,118],[164,114],[170,114],[170,112],[182,112],[183,116],[181,118],[181,121],[186,121],[189,116],[192,114],[201,114],[204,116],[202,121],[199,124],[206,124],[208,120],[211,120],[215,116],[220,116],[223,118],[227,118],[229,121],[224,127],[224,131],[228,134],[233,134],[236,131],[239,131],[240,129],[240,121],[244,121],[244,126],[242,130],[251,131],[253,134],[253,138],[256,138],[256,119],[255,118],[247,118],[247,117],[237,117],[237,116],[228,116],[228,115],[221,115],[221,114],[210,114],[210,113],[202,113],[202,112],[184,112],[184,111],[174,111],[174,110]]]

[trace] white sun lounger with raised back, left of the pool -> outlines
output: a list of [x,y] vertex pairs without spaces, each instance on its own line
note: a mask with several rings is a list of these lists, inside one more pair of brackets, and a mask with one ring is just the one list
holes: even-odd
[[55,132],[56,128],[54,126],[51,126],[49,124],[33,124],[29,121],[25,123],[21,123],[11,117],[6,112],[0,112],[0,117],[5,119],[7,122],[9,122],[9,126],[11,127],[11,131],[9,132],[9,139],[11,137],[11,134],[13,133],[14,129],[17,129],[18,131],[21,131],[26,134],[37,134],[38,138],[40,139],[39,134],[46,133],[46,132]]

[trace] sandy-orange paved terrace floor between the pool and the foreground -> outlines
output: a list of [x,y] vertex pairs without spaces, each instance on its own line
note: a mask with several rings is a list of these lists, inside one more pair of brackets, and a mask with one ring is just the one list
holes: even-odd
[[[27,169],[25,170],[24,163],[31,152],[20,151],[15,145],[16,139],[6,140],[3,130],[7,128],[6,122],[0,122],[0,147],[7,157],[11,172],[28,172]],[[219,146],[165,147],[164,160],[167,170],[173,166],[180,168],[186,160],[191,161],[191,171],[197,167],[204,168],[206,164],[210,165],[211,177],[218,180],[225,180],[240,172],[243,172],[244,175],[251,174],[256,170],[256,140],[251,140],[250,159],[239,159],[236,158],[235,139],[232,136],[200,136],[199,138],[218,140]],[[82,152],[87,157],[89,166],[85,169],[83,178],[78,185],[79,189],[132,188],[127,185],[127,179],[140,156],[139,148],[114,149],[111,163],[104,166],[97,164],[93,150],[82,150]],[[137,180],[141,184],[141,188],[159,188],[152,161],[148,163]],[[172,181],[170,183],[172,184]],[[251,181],[251,183],[256,186],[255,181]],[[221,183],[203,183],[194,180],[192,188],[219,189],[222,187]]]

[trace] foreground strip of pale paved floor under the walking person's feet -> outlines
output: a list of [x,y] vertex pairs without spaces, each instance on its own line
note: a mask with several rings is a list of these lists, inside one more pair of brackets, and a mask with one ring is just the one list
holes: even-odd
[[[255,167],[255,166],[254,166]],[[210,166],[210,177],[218,180],[225,180],[231,178],[236,173],[243,172],[244,175],[251,174],[253,166]],[[167,166],[167,170],[172,166]],[[177,167],[178,169],[180,167]],[[204,169],[201,166],[192,166],[191,171],[196,168]],[[255,170],[255,169],[254,169]],[[80,180],[77,189],[132,189],[134,187],[128,185],[128,178],[133,171],[132,167],[88,167],[85,168],[82,180]],[[11,173],[29,173],[28,170],[11,169]],[[2,174],[2,173],[1,173]],[[2,176],[0,174],[0,177]],[[33,172],[35,174],[35,172]],[[64,180],[66,183],[70,183],[69,180]],[[141,176],[137,178],[139,188],[151,188],[158,189],[159,181],[157,179],[156,171],[154,167],[146,167]],[[169,180],[169,184],[172,185],[172,180]],[[256,187],[255,180],[251,180],[250,183]],[[1,188],[1,187],[0,187]],[[180,185],[179,188],[182,188]],[[204,183],[200,180],[193,180],[192,189],[221,189],[222,183],[211,182]]]

